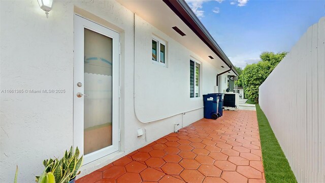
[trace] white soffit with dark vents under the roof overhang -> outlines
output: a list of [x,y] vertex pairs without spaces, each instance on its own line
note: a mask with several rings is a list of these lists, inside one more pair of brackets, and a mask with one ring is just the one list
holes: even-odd
[[[117,0],[117,2],[214,65],[218,71],[221,72],[229,69],[162,0]],[[174,31],[173,26],[177,26],[186,36],[179,35]],[[209,55],[214,59],[209,58]],[[224,66],[224,68],[220,66]]]

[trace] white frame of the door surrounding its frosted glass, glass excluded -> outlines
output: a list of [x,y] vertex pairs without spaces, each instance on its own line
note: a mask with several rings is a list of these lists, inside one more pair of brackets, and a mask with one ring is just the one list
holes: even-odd
[[[73,78],[73,145],[83,154],[84,146],[84,28],[112,38],[112,145],[84,156],[83,164],[110,155],[120,148],[119,137],[119,52],[120,34],[112,29],[74,15],[74,78]],[[81,82],[82,86],[77,86]]]

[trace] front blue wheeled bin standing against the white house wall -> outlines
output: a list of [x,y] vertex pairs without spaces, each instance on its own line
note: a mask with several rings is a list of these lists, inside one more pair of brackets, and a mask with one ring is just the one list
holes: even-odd
[[214,94],[203,95],[204,103],[204,118],[217,119],[218,118],[218,101],[219,96]]

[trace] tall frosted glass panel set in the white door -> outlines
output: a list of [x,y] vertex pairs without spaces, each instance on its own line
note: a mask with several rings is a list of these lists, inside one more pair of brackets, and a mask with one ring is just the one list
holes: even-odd
[[84,155],[112,145],[112,43],[84,29]]

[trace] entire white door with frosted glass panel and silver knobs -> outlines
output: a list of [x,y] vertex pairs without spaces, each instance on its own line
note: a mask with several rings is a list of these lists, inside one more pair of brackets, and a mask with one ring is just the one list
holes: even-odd
[[119,34],[74,18],[74,146],[87,164],[119,149]]

